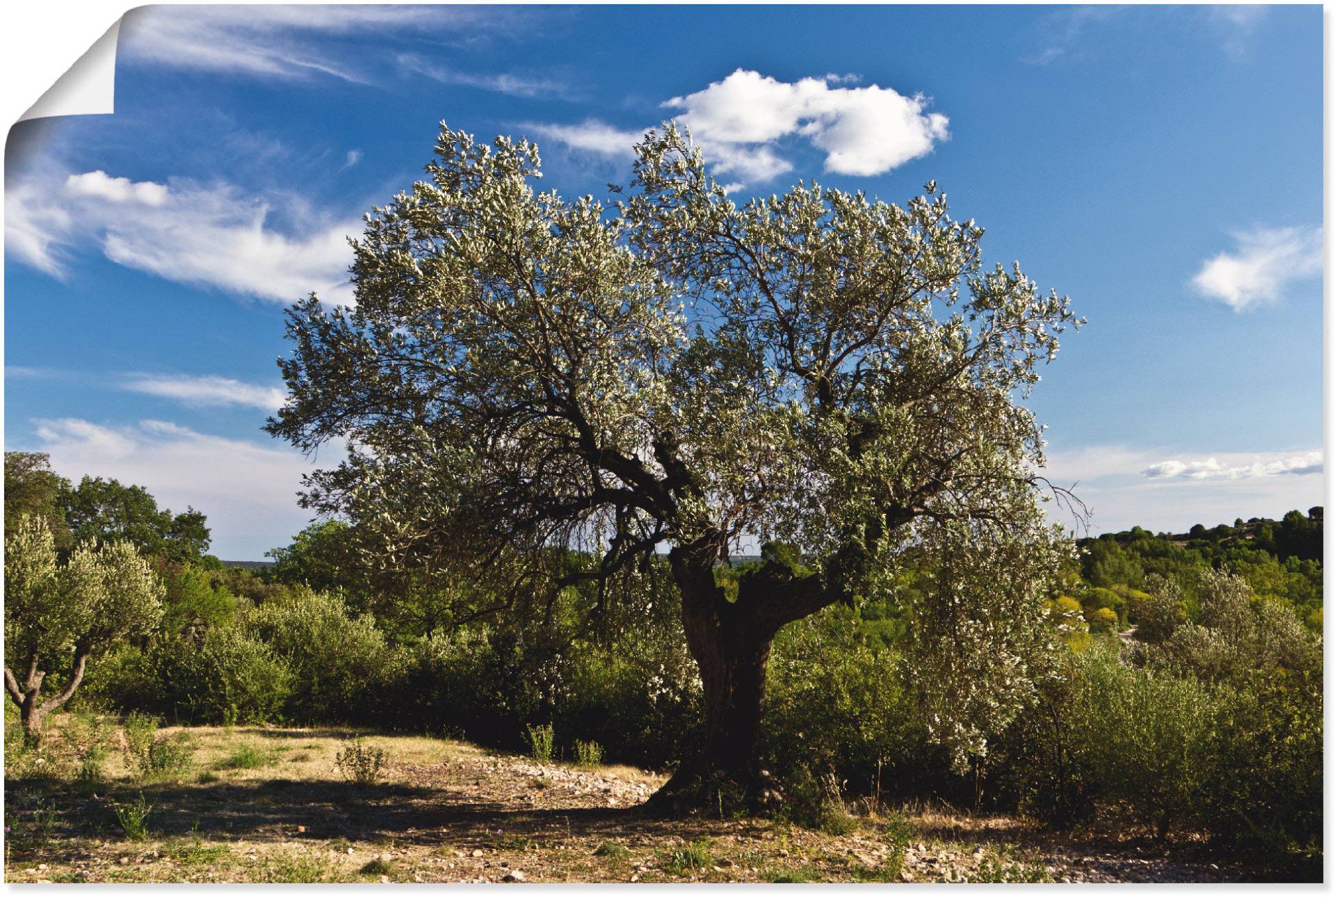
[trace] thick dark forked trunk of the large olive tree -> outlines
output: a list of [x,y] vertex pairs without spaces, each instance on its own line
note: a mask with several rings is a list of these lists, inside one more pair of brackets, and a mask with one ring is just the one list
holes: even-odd
[[781,626],[834,601],[814,578],[797,581],[766,565],[729,602],[714,582],[714,558],[698,545],[669,554],[705,693],[700,749],[651,800],[672,811],[718,803],[754,808],[778,799],[758,753],[770,645]]

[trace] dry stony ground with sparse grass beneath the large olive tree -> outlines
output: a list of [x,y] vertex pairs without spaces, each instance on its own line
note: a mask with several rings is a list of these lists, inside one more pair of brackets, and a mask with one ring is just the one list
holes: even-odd
[[[425,737],[367,737],[347,783],[338,731],[191,728],[194,767],[101,785],[7,780],[8,882],[1222,882],[1247,872],[1133,840],[1044,835],[999,816],[885,810],[825,831],[659,819],[662,776],[543,764]],[[236,747],[255,752],[236,767]],[[254,756],[254,757],[252,757]],[[255,764],[255,757],[259,763]],[[55,772],[52,772],[55,773]],[[116,805],[144,808],[131,839]],[[132,830],[132,828],[129,828]],[[834,831],[834,832],[830,832]]]

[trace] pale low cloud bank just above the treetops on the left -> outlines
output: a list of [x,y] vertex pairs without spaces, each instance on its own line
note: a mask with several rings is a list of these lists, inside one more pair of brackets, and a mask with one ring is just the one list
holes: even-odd
[[310,518],[296,505],[296,492],[314,464],[276,442],[266,446],[151,419],[107,426],[57,418],[36,425],[36,449],[49,453],[52,469],[75,481],[89,474],[142,485],[174,512],[195,506],[208,517],[211,552],[223,558],[262,558]]

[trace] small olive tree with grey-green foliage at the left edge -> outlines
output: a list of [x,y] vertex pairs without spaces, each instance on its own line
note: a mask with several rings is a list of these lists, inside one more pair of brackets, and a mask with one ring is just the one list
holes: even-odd
[[[158,624],[164,590],[128,542],[80,544],[59,564],[51,528],[31,516],[5,538],[4,580],[4,685],[36,740],[47,715],[79,689],[93,652]],[[44,699],[51,671],[68,673]]]

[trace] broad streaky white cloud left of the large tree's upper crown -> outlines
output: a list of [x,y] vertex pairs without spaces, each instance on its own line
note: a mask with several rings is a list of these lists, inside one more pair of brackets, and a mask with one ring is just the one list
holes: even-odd
[[134,182],[100,170],[31,174],[5,191],[5,247],[55,277],[75,250],[96,246],[112,262],[182,283],[282,303],[312,290],[351,302],[347,235],[362,223],[315,216],[314,227],[283,232],[270,223],[275,211],[311,218],[295,198],[231,184]]

